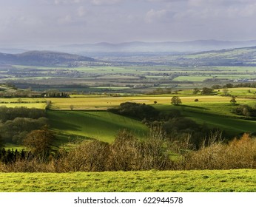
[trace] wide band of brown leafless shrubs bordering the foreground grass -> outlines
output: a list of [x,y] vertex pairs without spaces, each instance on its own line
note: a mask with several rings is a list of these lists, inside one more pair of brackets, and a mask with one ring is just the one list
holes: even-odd
[[223,143],[220,132],[212,132],[207,143],[195,150],[189,135],[183,142],[166,139],[161,128],[138,140],[127,131],[114,143],[84,140],[70,151],[54,154],[1,150],[1,172],[104,172],[179,169],[256,169],[256,140],[245,134]]

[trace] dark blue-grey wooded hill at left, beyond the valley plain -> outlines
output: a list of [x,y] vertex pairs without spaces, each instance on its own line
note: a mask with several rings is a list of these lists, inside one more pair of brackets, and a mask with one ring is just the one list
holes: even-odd
[[93,58],[64,52],[29,51],[20,54],[0,53],[0,64],[58,65],[75,61],[95,61]]

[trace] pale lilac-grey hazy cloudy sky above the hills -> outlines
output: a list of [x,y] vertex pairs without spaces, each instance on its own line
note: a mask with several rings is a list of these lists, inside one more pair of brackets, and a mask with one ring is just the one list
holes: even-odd
[[256,39],[255,0],[0,0],[0,45]]

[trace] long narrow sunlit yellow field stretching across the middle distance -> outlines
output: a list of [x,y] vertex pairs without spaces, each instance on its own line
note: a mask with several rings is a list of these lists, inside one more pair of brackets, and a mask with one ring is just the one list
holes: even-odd
[[[1,98],[0,106],[7,107],[21,107],[26,106],[28,108],[44,109],[46,101],[51,101],[51,109],[57,110],[70,110],[70,106],[73,105],[74,110],[105,110],[113,106],[119,106],[121,103],[130,101],[135,103],[154,104],[170,104],[171,98],[174,95],[136,95],[127,97],[111,97],[111,96],[95,96],[95,95],[78,95],[71,98],[22,98],[24,103],[18,104],[18,98]],[[223,97],[218,95],[195,95],[195,96],[180,96],[183,104],[195,103],[195,99],[198,98],[200,103],[229,103],[230,97]],[[245,98],[237,98],[237,101],[246,101]],[[2,103],[1,103],[2,102]],[[12,102],[16,102],[12,104]],[[7,103],[7,104],[6,104]]]

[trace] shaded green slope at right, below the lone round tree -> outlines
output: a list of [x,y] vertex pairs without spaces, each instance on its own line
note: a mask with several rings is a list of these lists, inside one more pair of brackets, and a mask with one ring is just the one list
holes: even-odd
[[[182,98],[181,98],[182,100]],[[201,99],[199,98],[199,101]],[[238,101],[239,104],[253,104],[255,101]],[[159,104],[155,106],[157,109],[168,112],[170,109],[178,109],[181,114],[187,118],[191,118],[197,123],[204,124],[210,128],[219,128],[229,135],[238,135],[244,132],[256,132],[256,121],[246,120],[243,117],[232,113],[232,108],[236,107],[226,101],[215,102],[183,102],[180,106],[170,106]]]

